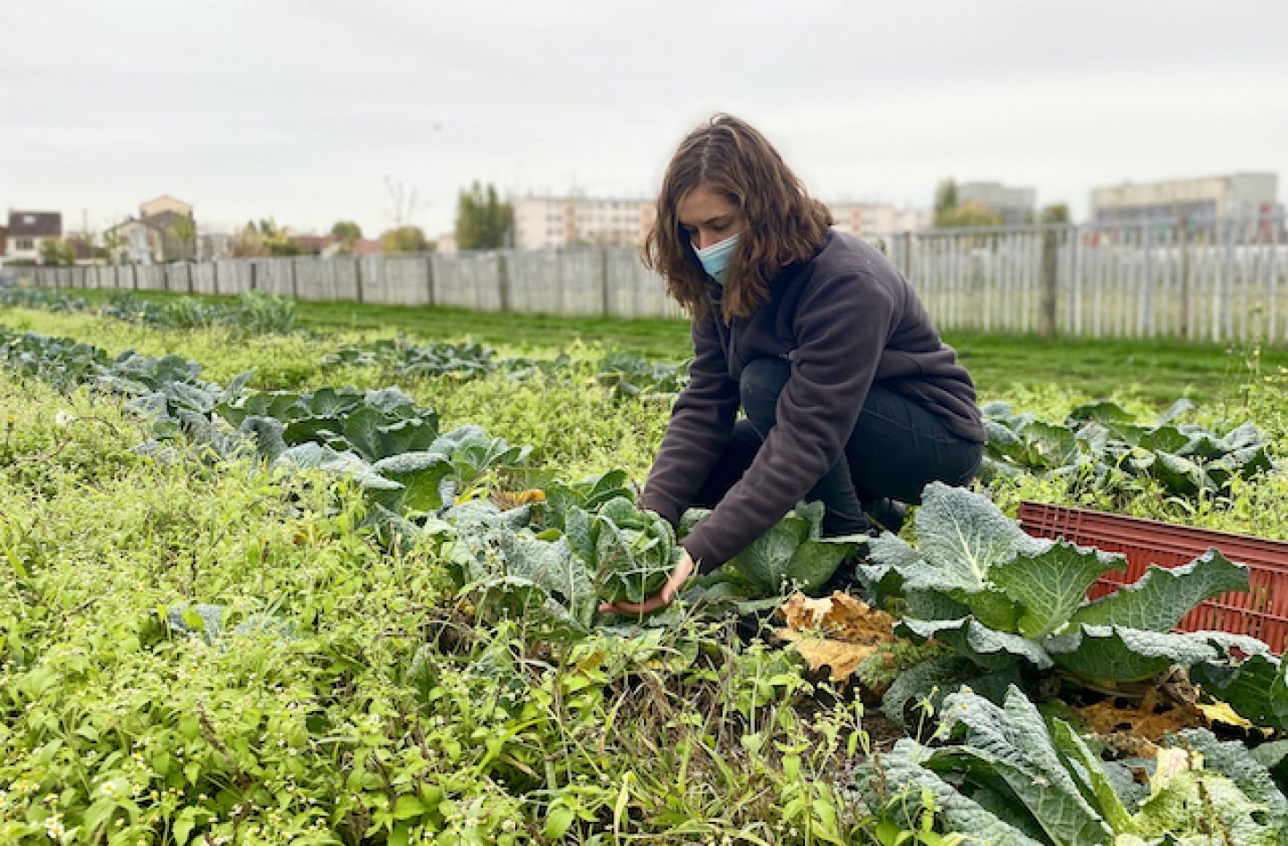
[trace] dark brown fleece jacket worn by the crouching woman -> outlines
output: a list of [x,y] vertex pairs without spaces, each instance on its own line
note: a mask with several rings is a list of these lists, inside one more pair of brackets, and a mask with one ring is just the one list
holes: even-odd
[[920,403],[949,431],[984,442],[975,385],[939,340],[912,286],[881,252],[829,232],[808,263],[773,279],[769,300],[728,326],[720,288],[693,323],[689,386],[644,487],[644,505],[672,524],[720,458],[739,407],[738,377],[761,355],[788,358],[777,424],[742,480],[684,540],[711,572],[764,534],[841,456],[872,384]]

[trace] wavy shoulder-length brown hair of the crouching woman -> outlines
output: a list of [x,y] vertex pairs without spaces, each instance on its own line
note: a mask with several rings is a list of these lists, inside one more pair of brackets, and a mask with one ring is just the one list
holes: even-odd
[[677,210],[685,194],[703,183],[723,192],[747,220],[725,270],[721,297],[725,321],[747,317],[769,297],[770,279],[823,247],[832,214],[744,121],[716,115],[689,133],[666,169],[641,259],[662,274],[666,292],[697,319],[707,314],[706,273],[680,228]]

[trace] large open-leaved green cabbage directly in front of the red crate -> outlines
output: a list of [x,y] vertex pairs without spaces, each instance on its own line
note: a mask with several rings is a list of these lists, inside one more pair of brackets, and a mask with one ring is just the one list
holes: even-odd
[[1140,681],[1172,664],[1216,666],[1265,653],[1251,637],[1168,634],[1197,603],[1247,590],[1247,568],[1211,550],[1173,570],[1150,568],[1133,586],[1088,603],[1087,588],[1122,556],[1036,540],[984,496],[926,487],[917,549],[893,536],[873,542],[869,583],[903,591],[896,631],[938,640],[985,670],[1057,667],[1083,684]]

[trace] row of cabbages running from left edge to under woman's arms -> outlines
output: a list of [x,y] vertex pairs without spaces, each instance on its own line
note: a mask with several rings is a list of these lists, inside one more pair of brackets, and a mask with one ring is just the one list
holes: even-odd
[[[529,623],[585,632],[600,600],[652,595],[679,558],[671,527],[635,506],[621,471],[555,483],[549,496],[559,505],[550,525],[540,519],[529,525],[531,507],[459,507],[479,493],[473,488],[486,473],[520,466],[531,448],[474,425],[440,434],[437,413],[397,388],[252,391],[245,389],[250,373],[222,388],[202,382],[196,362],[133,353],[107,362],[102,350],[30,334],[5,337],[0,357],[63,389],[89,384],[130,397],[153,434],[137,447],[142,453],[174,460],[176,448],[191,444],[220,458],[254,455],[272,467],[340,474],[368,497],[381,534],[401,543],[415,545],[426,527],[446,522],[461,555],[473,550],[474,556],[459,570],[457,587],[478,590],[484,605]],[[614,496],[601,496],[605,485]],[[688,524],[702,516],[692,512]],[[702,581],[699,591],[738,601],[778,596],[793,583],[817,587],[867,540],[822,538],[820,532],[820,503],[802,505],[724,573]]]

